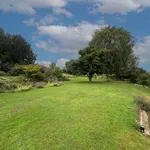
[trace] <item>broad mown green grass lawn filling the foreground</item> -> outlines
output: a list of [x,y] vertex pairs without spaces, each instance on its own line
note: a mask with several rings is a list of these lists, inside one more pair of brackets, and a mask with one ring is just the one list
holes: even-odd
[[0,94],[2,150],[149,150],[127,82],[72,78],[61,87]]

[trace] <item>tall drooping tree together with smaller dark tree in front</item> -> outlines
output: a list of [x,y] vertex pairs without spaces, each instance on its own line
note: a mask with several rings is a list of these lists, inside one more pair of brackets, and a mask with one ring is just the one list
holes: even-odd
[[66,63],[66,72],[88,75],[89,81],[95,73],[105,74],[107,78],[110,75],[117,79],[133,77],[138,70],[134,44],[132,35],[124,28],[108,26],[97,30],[88,47],[79,51],[79,59]]

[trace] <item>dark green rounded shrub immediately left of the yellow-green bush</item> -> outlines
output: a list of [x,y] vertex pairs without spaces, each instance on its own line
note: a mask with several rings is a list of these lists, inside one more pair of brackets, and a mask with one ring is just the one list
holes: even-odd
[[16,65],[11,70],[11,75],[19,76],[25,74],[23,65]]

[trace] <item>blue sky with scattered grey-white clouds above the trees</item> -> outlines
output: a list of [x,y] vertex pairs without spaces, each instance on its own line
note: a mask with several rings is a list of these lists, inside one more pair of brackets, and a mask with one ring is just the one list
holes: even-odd
[[150,70],[150,0],[0,0],[0,26],[21,34],[43,64],[63,67],[107,25],[131,32],[140,66]]

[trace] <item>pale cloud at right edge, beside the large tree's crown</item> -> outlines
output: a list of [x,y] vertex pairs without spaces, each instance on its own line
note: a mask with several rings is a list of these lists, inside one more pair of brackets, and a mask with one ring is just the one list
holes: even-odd
[[140,57],[141,64],[150,65],[150,36],[144,37],[143,42],[137,43],[134,51]]

